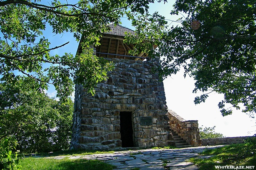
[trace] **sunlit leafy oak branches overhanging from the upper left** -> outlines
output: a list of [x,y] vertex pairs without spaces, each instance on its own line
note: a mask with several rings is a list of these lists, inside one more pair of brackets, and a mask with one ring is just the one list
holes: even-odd
[[[63,3],[64,2],[64,3]],[[2,81],[16,81],[17,74],[38,82],[41,89],[55,86],[57,97],[71,95],[74,83],[83,84],[89,92],[107,78],[112,64],[92,55],[90,44],[99,45],[100,35],[117,24],[127,11],[144,13],[153,0],[1,0],[0,1],[0,74]],[[83,39],[83,51],[72,55],[50,55],[51,47],[44,37],[46,27],[53,34],[74,33]],[[44,67],[44,63],[50,64]],[[72,80],[74,78],[74,81]]]

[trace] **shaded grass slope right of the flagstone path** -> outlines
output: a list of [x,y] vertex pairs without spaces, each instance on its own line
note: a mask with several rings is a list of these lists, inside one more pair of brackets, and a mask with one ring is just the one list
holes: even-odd
[[206,150],[201,155],[213,155],[208,159],[191,158],[199,169],[216,169],[215,166],[256,166],[255,144],[232,144],[213,150]]

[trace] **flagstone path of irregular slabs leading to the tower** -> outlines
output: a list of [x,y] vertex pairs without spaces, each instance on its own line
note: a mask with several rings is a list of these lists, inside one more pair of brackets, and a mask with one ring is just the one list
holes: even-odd
[[[209,158],[211,156],[199,156],[198,153],[206,149],[214,149],[218,146],[199,146],[180,149],[143,149],[132,151],[118,151],[106,154],[68,156],[69,159],[99,159],[106,163],[116,166],[116,169],[133,169],[140,168],[140,170],[194,170],[197,169],[190,158]],[[54,159],[63,159],[67,156],[56,156]],[[51,157],[52,158],[52,157]]]

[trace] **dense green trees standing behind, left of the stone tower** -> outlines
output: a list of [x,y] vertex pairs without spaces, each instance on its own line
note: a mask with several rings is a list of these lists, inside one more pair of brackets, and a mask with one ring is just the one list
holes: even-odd
[[70,99],[49,98],[33,79],[0,84],[0,138],[15,136],[22,152],[68,149],[72,114]]

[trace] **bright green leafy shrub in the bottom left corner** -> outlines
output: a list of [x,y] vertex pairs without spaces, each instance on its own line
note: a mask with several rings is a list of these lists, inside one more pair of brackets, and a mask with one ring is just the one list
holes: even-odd
[[16,151],[17,141],[13,137],[0,139],[0,169],[20,170],[18,153]]

